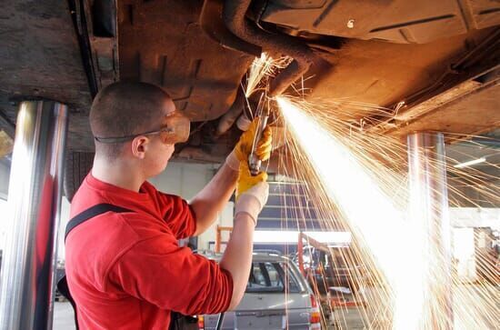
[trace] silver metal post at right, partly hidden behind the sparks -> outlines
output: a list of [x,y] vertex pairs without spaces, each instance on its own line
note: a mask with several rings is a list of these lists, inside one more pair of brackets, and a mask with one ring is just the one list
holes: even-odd
[[[424,225],[426,301],[423,328],[453,328],[452,245],[446,185],[445,141],[439,133],[408,135],[412,215]],[[411,299],[411,297],[408,297]]]

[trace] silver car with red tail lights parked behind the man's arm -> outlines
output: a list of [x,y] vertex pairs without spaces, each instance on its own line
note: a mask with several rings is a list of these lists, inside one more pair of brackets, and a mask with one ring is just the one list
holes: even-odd
[[[215,329],[218,317],[200,316],[200,329]],[[256,252],[245,295],[235,311],[225,313],[222,329],[320,329],[320,322],[315,295],[296,265],[282,255]]]

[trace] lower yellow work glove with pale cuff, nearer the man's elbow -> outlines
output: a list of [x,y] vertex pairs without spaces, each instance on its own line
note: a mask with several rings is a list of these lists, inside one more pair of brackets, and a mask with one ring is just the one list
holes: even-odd
[[257,225],[257,218],[269,195],[267,174],[261,172],[252,176],[246,162],[240,162],[240,172],[236,184],[235,220],[241,215],[249,215]]

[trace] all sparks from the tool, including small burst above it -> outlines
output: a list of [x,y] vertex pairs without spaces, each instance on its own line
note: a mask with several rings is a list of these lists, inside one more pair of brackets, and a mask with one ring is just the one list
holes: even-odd
[[[287,57],[275,60],[265,54],[255,58],[244,89],[247,98],[256,91],[263,92],[257,113],[260,107],[270,105],[264,96],[270,78],[290,61]],[[283,136],[274,136],[277,145],[285,145],[276,151],[278,173],[295,177],[293,181],[305,185],[307,195],[307,205],[284,195],[285,218],[295,219],[296,227],[305,230],[353,234],[354,240],[348,248],[329,248],[329,255],[334,265],[349,266],[352,295],[365,328],[495,328],[500,319],[500,306],[496,303],[499,292],[495,286],[499,283],[499,273],[491,255],[475,251],[478,272],[490,284],[482,280],[465,285],[456,269],[453,271],[453,319],[446,313],[443,293],[435,292],[435,288],[446,283],[439,277],[449,276],[449,268],[441,267],[446,265],[442,256],[429,252],[432,251],[429,247],[435,245],[435,237],[415,217],[419,212],[412,215],[415,199],[412,208],[406,145],[376,129],[392,122],[404,103],[388,109],[350,99],[307,97],[305,100],[307,79],[297,84],[300,88],[292,86],[298,97],[277,98],[278,123],[285,126],[285,131],[278,131]],[[455,142],[473,137],[484,139],[445,135],[447,141]],[[455,159],[446,158],[447,179],[452,183],[448,186],[449,205],[497,207],[500,188],[492,183],[498,181],[498,175],[454,166],[457,164]],[[499,167],[487,161],[486,164]],[[430,166],[438,165],[431,157]],[[477,195],[474,200],[468,197],[471,192]],[[323,219],[321,228],[307,226],[305,219],[310,217],[311,210],[318,219]],[[288,230],[288,221],[284,224],[283,229]],[[325,268],[320,266],[317,271],[324,275],[322,280],[316,282],[314,276],[310,280],[315,295],[324,299],[320,292],[327,288]],[[338,276],[335,267],[333,273]],[[344,294],[338,294],[337,298],[343,297]],[[335,325],[349,328],[346,316],[352,311],[341,305],[326,305],[336,315]],[[322,314],[323,327],[327,323],[327,315]]]

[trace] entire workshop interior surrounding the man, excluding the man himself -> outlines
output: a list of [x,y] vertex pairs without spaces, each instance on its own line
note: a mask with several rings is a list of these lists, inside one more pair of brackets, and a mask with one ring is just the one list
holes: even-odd
[[[75,329],[55,282],[115,82],[189,119],[150,180],[186,200],[256,122],[245,295],[185,329],[499,328],[499,25],[491,0],[3,1],[0,329]],[[179,245],[220,262],[234,215]]]

